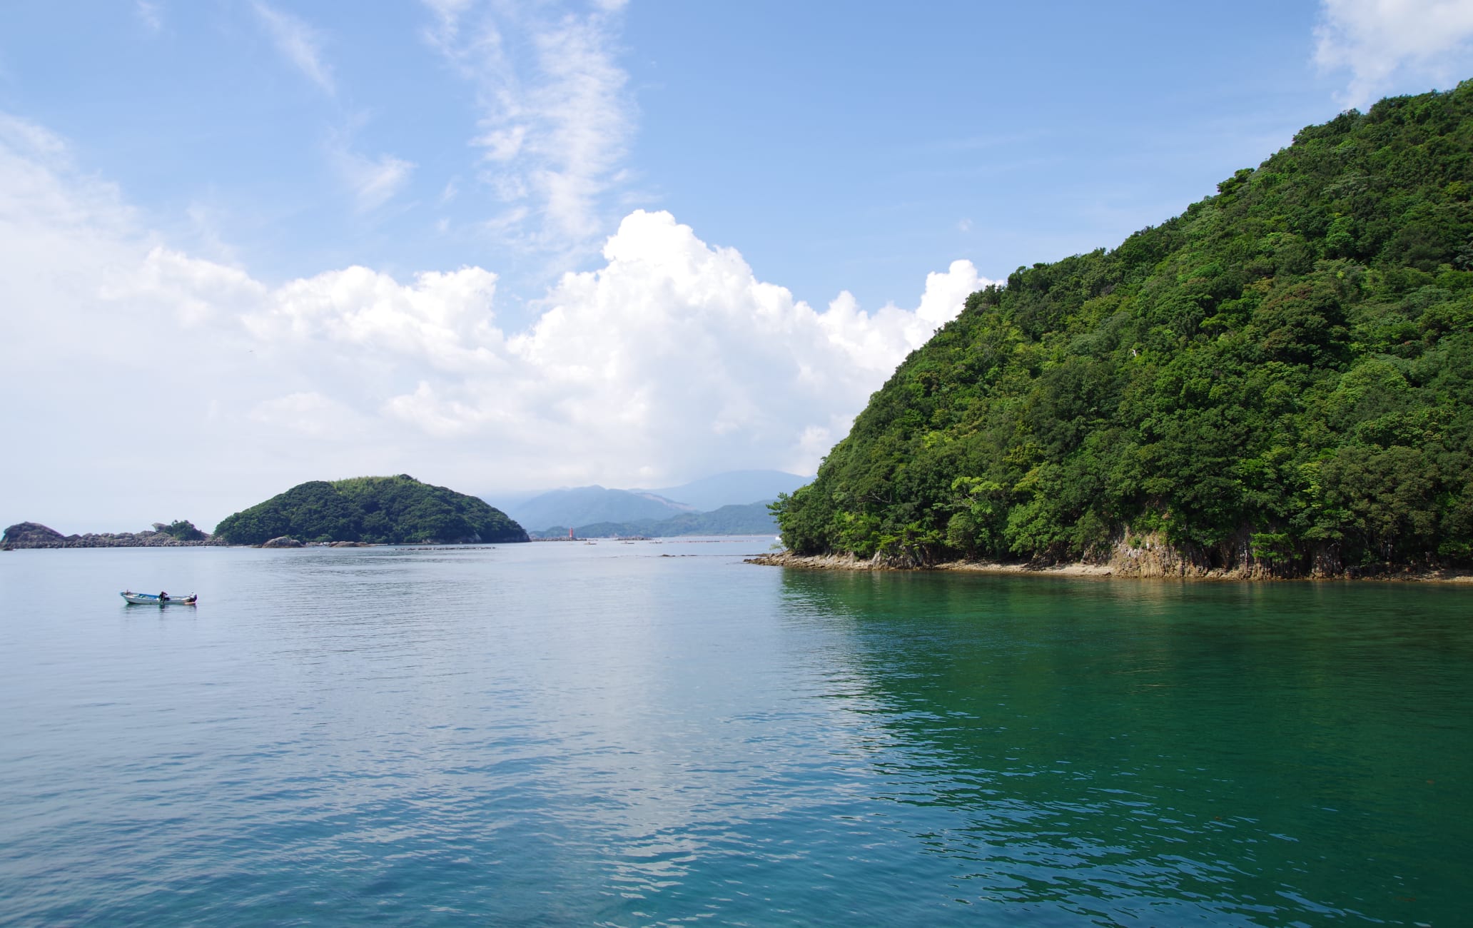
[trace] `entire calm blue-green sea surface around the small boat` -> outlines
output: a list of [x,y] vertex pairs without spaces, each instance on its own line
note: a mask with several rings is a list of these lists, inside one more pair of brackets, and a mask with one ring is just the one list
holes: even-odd
[[769,541],[0,554],[0,924],[1469,924],[1473,589]]

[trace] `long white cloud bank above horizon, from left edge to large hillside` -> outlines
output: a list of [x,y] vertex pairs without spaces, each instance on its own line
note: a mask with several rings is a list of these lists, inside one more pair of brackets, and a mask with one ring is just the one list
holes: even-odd
[[906,352],[990,283],[955,261],[913,309],[863,312],[841,293],[818,311],[670,214],[633,211],[601,267],[564,274],[535,324],[505,330],[498,277],[479,267],[273,286],[168,247],[62,140],[13,118],[0,122],[0,267],[29,309],[0,348],[28,384],[4,427],[66,423],[10,455],[7,479],[68,474],[34,504],[65,520],[127,519],[161,480],[155,505],[218,498],[222,511],[196,514],[214,520],[356,473],[467,491],[812,473]]

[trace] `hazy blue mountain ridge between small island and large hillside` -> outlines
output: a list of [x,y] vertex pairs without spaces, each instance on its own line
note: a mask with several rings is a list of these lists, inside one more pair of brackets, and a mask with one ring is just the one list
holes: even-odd
[[[734,470],[681,486],[653,491],[602,486],[564,488],[501,508],[517,523],[530,526],[532,530],[541,533],[554,527],[567,532],[567,526],[611,524],[627,527],[636,523],[676,519],[689,513],[711,513],[722,507],[766,502],[776,499],[779,493],[795,491],[806,482],[807,477],[781,470]],[[742,524],[751,523],[747,520]],[[757,533],[767,530],[767,527],[756,529]],[[734,533],[747,533],[747,529]]]

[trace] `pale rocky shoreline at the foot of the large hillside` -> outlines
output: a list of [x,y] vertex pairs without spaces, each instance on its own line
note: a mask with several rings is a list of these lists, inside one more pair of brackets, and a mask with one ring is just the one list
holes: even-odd
[[1183,558],[1161,563],[1150,558],[1111,558],[1103,564],[1075,561],[1068,564],[1031,564],[1021,561],[943,561],[918,564],[881,557],[860,558],[853,554],[792,554],[781,551],[745,558],[748,564],[794,567],[798,570],[950,570],[996,574],[1061,576],[1061,577],[1127,577],[1183,580],[1418,580],[1433,583],[1473,583],[1473,570],[1417,570],[1414,567],[1379,566],[1340,573],[1283,574],[1255,569],[1198,569]]

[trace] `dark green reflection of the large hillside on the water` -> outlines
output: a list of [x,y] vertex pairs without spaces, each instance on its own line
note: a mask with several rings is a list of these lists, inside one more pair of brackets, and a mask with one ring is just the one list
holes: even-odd
[[1461,918],[1469,591],[938,579],[788,573],[784,597],[847,633],[893,734],[876,798],[946,807],[915,837],[968,894]]

